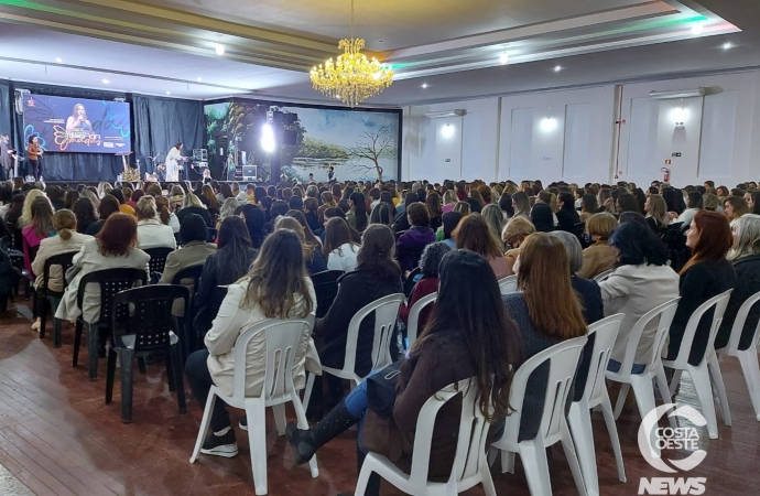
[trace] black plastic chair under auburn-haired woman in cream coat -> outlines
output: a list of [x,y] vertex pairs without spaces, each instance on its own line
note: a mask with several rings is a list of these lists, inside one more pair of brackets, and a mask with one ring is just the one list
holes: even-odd
[[[100,316],[98,322],[88,324],[87,327],[87,358],[89,380],[98,380],[98,343],[101,332],[106,332],[111,325],[111,302],[113,298],[123,290],[131,289],[135,283],[144,285],[148,282],[148,274],[142,269],[106,269],[96,270],[85,274],[79,281],[76,295],[76,303],[82,311],[82,301],[85,296],[87,284],[100,285]],[[72,366],[76,367],[79,362],[79,346],[82,345],[82,333],[85,324],[84,314],[76,321],[74,333],[74,357]]]

